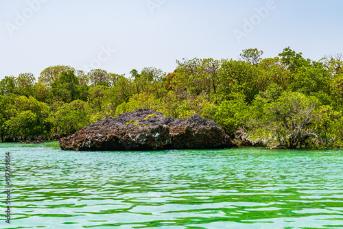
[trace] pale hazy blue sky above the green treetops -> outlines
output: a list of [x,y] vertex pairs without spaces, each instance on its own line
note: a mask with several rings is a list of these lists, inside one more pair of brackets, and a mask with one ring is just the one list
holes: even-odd
[[343,53],[343,1],[0,0],[0,78],[64,64],[130,75],[182,58],[233,58],[285,47]]

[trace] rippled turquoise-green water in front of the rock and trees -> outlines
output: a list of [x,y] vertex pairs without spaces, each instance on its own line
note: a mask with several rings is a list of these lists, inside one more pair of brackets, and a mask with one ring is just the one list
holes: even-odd
[[1,192],[0,228],[343,228],[340,150],[63,152],[57,142],[1,143],[1,168],[5,152],[12,220],[5,224]]

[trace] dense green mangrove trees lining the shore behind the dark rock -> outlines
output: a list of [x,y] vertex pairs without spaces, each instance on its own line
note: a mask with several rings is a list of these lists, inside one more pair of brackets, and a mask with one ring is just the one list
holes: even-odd
[[343,148],[343,55],[274,58],[246,49],[239,60],[177,61],[129,76],[57,65],[0,81],[0,141],[58,140],[107,117],[141,108],[215,121],[237,145]]

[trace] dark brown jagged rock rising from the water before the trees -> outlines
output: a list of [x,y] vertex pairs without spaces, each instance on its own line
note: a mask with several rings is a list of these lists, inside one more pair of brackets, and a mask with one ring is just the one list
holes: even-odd
[[173,119],[141,109],[106,118],[59,141],[63,150],[216,149],[233,143],[216,123],[192,115]]

